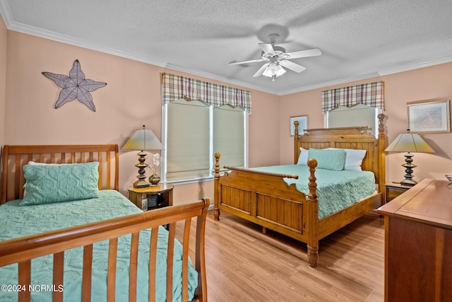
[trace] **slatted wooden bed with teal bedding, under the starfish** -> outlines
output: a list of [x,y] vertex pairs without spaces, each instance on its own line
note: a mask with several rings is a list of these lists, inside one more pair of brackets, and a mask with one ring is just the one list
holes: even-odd
[[4,146],[1,301],[207,301],[208,199],[143,212],[118,161],[117,145]]

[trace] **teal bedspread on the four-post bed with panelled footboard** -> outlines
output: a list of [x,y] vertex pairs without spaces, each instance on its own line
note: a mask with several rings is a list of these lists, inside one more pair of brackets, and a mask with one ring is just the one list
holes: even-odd
[[[297,190],[309,193],[307,165],[273,165],[253,168],[273,173],[298,175],[298,179],[284,178],[287,184],[295,183]],[[319,219],[359,202],[375,191],[375,176],[369,171],[316,169]]]

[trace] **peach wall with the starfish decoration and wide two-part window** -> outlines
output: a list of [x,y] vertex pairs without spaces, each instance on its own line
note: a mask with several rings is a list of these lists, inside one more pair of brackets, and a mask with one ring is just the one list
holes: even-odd
[[[75,59],[80,61],[87,79],[107,83],[92,93],[96,112],[78,100],[54,109],[61,89],[41,73],[69,75]],[[6,70],[4,144],[119,144],[121,147],[142,124],[160,138],[162,72],[219,83],[11,30]],[[274,112],[278,112],[278,97],[260,91],[251,93],[250,164],[278,164],[278,144],[267,144],[262,139],[265,132],[268,141],[278,141],[278,123],[266,128],[268,120],[274,120]],[[119,185],[125,194],[136,180],[136,153],[121,153],[119,162]],[[213,182],[174,189],[176,202],[199,199],[203,194],[213,197]]]

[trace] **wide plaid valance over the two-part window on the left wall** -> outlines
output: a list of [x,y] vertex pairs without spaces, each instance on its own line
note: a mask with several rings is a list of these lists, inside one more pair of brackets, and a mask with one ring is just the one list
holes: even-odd
[[162,102],[174,102],[181,98],[203,100],[214,107],[231,105],[242,107],[251,113],[251,91],[218,85],[185,76],[162,74]]

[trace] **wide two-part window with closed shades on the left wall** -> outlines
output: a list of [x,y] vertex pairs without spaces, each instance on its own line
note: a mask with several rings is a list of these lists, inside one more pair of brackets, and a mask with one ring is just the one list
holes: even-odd
[[221,165],[246,165],[248,114],[242,108],[180,99],[165,104],[163,112],[165,180],[212,177],[215,152],[221,153]]

